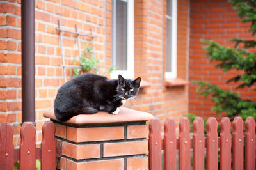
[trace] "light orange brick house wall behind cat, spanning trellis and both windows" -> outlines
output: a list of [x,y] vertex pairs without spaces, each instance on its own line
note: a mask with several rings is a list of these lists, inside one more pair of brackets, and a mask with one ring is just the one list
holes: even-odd
[[[11,122],[15,128],[13,143],[19,144],[21,122],[21,19],[20,0],[0,4],[0,123]],[[126,107],[150,112],[163,120],[180,118],[188,112],[188,89],[185,86],[167,88],[164,85],[164,0],[134,1],[135,76],[141,76],[151,86],[141,89],[138,100]],[[189,1],[178,1],[177,76],[188,79]],[[42,114],[54,106],[54,97],[64,83],[61,68],[61,28],[91,34],[93,29],[95,56],[100,59],[100,73],[111,66],[112,1],[35,0],[35,96],[36,141],[42,139]],[[92,38],[80,37],[81,49]],[[63,33],[65,64],[77,57],[77,37]],[[68,79],[71,68],[66,68]],[[163,122],[163,121],[162,121]]]

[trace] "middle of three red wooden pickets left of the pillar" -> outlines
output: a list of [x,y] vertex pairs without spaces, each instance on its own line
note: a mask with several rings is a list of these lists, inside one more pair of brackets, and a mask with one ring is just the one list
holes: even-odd
[[35,127],[25,122],[20,128],[20,170],[36,168]]

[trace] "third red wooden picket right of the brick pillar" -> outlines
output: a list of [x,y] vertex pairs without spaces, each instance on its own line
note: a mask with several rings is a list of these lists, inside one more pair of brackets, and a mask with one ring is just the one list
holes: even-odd
[[188,170],[190,164],[190,135],[189,135],[189,120],[181,118],[179,123],[179,169]]

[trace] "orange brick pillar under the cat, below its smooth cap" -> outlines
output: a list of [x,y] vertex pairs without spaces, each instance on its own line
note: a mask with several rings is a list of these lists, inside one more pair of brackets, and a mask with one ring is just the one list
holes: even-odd
[[79,128],[65,124],[55,126],[57,143],[62,147],[58,169],[148,167],[148,125],[145,121],[80,125]]

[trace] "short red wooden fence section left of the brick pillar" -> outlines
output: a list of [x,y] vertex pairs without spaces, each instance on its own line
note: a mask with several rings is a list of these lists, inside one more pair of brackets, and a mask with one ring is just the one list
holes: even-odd
[[41,160],[41,169],[56,169],[55,127],[46,121],[42,127],[41,148],[36,148],[36,130],[31,122],[20,128],[20,148],[14,149],[13,128],[10,123],[0,125],[0,169],[13,169],[14,162],[20,161],[20,169],[36,169],[36,159]]

